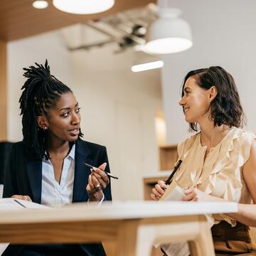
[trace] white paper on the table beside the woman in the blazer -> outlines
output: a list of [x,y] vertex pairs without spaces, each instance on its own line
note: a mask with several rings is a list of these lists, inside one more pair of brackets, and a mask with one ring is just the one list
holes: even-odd
[[43,206],[39,203],[16,199],[16,198],[1,198],[0,211],[3,210],[21,210],[21,209],[46,209],[48,206]]

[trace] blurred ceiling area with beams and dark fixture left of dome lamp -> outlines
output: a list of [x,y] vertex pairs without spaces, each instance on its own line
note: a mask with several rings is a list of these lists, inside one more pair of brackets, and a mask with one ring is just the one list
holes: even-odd
[[115,14],[76,23],[60,29],[68,50],[90,50],[115,43],[118,47],[114,53],[122,53],[128,48],[142,50],[146,43],[146,32],[149,24],[156,20],[156,4],[120,11]]

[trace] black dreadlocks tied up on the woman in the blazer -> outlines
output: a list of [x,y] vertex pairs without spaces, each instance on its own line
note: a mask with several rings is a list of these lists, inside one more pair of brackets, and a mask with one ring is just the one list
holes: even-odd
[[[72,92],[72,90],[50,75],[47,60],[44,66],[35,64],[35,66],[23,68],[26,71],[23,76],[28,78],[21,87],[23,92],[18,101],[22,115],[23,143],[27,152],[35,154],[40,159],[43,157],[49,159],[46,148],[46,132],[38,127],[37,117],[43,114],[48,116],[47,110],[55,107],[61,95]],[[82,137],[81,132],[78,138],[80,139],[80,137]]]

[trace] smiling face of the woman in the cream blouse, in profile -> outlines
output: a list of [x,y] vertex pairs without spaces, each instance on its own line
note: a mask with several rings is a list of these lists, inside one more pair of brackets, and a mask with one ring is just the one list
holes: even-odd
[[[213,100],[209,90],[201,88],[192,76],[186,80],[183,87],[183,97],[179,105],[183,107],[186,122],[201,122],[201,119],[209,117],[210,102]],[[207,114],[208,113],[208,114]]]

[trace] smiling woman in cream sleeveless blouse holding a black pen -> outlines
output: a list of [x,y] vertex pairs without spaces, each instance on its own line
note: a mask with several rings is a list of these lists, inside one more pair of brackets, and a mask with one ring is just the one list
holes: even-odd
[[[159,181],[151,198],[181,186],[183,201],[256,203],[255,134],[241,129],[244,113],[233,77],[221,67],[193,70],[179,105],[193,136],[178,144],[182,164],[170,186]],[[236,215],[212,215],[216,255],[254,255],[249,227]]]

